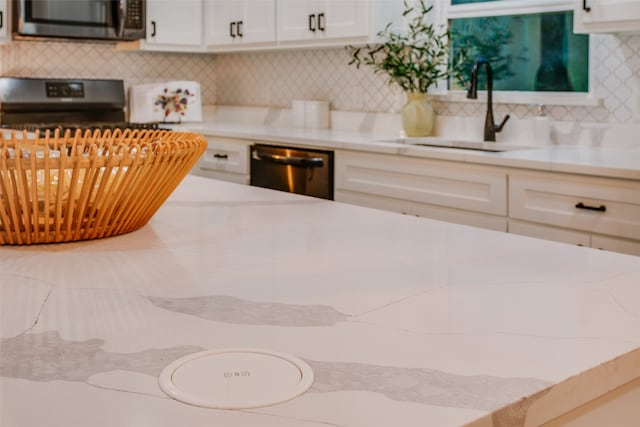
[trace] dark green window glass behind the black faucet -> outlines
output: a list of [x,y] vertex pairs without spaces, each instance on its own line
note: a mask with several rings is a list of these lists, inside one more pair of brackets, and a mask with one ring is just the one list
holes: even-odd
[[589,37],[573,34],[572,12],[452,19],[450,26],[456,36],[452,58],[468,54],[463,78],[469,78],[476,58],[484,58],[495,90],[589,90]]

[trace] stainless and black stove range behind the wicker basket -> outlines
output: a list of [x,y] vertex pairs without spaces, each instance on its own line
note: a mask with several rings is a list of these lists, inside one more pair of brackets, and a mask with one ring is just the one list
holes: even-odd
[[122,80],[0,77],[0,127],[55,129],[156,129],[126,121]]

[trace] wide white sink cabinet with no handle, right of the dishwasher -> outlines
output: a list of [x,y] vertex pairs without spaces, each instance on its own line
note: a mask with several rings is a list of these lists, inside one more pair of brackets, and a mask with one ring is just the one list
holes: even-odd
[[336,152],[335,199],[459,224],[507,230],[506,173],[394,155]]

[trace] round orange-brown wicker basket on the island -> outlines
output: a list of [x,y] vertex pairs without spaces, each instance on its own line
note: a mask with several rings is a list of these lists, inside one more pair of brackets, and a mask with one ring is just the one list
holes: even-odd
[[0,244],[70,242],[145,225],[207,142],[158,130],[0,131]]

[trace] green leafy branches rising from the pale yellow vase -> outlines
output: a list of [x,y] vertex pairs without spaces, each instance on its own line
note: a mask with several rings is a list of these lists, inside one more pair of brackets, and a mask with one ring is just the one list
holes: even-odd
[[392,31],[389,23],[378,32],[381,43],[363,47],[347,46],[351,54],[349,65],[360,68],[367,65],[375,73],[386,74],[389,84],[396,84],[406,92],[426,93],[436,82],[448,77],[460,79],[459,67],[464,60],[464,51],[451,60],[449,40],[451,34],[444,29],[438,31],[426,17],[433,9],[424,0],[415,6],[404,0],[403,17],[409,18],[407,31]]

